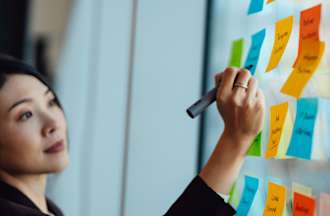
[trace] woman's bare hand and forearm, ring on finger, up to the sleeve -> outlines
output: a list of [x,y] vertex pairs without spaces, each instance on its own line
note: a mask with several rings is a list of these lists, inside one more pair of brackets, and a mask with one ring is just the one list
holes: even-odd
[[225,129],[200,177],[214,191],[228,194],[244,156],[262,128],[265,99],[247,70],[227,68],[216,75],[217,106]]

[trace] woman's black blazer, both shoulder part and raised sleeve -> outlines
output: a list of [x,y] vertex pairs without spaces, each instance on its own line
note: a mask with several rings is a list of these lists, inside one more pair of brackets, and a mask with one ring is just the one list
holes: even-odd
[[[49,211],[63,216],[61,210],[47,199]],[[165,216],[227,216],[236,211],[199,177],[196,176]],[[22,192],[0,181],[0,215],[46,216]]]

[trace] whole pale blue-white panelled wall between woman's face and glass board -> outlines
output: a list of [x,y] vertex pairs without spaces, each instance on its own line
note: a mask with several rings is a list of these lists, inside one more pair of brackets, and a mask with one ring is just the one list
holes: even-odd
[[77,0],[58,69],[66,215],[161,215],[195,176],[205,1]]

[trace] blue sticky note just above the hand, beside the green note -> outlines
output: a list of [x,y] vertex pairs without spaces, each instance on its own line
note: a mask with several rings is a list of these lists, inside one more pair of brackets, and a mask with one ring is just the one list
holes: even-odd
[[250,69],[250,72],[252,75],[255,74],[257,64],[259,61],[261,47],[264,42],[265,36],[266,36],[266,29],[263,29],[263,30],[255,33],[254,35],[252,35],[251,47],[250,47],[248,56],[247,56],[245,64],[244,64],[245,68],[252,65],[252,68]]

